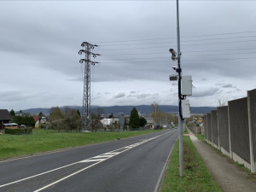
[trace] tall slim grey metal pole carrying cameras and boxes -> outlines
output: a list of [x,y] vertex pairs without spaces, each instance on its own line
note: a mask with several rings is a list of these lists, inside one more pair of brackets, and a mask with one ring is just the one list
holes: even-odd
[[178,140],[179,140],[179,175],[183,177],[183,119],[181,114],[181,67],[180,67],[180,35],[179,35],[179,15],[178,15],[178,0],[177,0],[177,78],[178,78]]

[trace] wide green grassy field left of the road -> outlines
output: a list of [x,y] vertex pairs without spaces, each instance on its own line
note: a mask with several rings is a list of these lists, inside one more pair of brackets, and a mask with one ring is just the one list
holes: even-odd
[[0,135],[0,159],[35,154],[60,148],[70,148],[92,143],[102,143],[125,137],[142,135],[154,131],[121,132],[58,132],[55,130],[33,130],[31,135]]

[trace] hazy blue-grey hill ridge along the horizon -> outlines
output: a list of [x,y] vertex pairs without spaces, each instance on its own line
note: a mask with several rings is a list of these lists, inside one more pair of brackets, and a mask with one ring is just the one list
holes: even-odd
[[[105,114],[119,114],[119,113],[125,113],[125,114],[130,114],[131,113],[131,109],[134,106],[111,106],[111,107],[99,107],[99,106],[92,106],[92,110],[94,110],[95,108],[103,108]],[[151,105],[139,105],[139,106],[135,106],[137,108],[137,111],[140,113],[152,113],[152,108]],[[64,110],[64,108],[74,108],[74,109],[79,109],[79,111],[82,111],[82,107],[79,106],[63,106],[60,107],[61,110]],[[160,111],[165,112],[165,113],[177,113],[178,112],[178,108],[177,106],[173,106],[173,105],[160,105]],[[49,109],[50,108],[29,108],[29,109],[25,109],[22,110],[24,113],[31,113],[31,114],[38,114],[40,112],[44,113],[44,114],[49,114]],[[209,113],[211,112],[213,109],[216,108],[212,108],[212,107],[191,107],[191,113]]]

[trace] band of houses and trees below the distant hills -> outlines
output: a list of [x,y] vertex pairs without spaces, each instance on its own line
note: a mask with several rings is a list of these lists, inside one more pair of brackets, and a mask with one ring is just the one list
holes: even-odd
[[[137,126],[140,130],[171,129],[177,128],[177,114],[163,113],[155,106],[152,113],[138,113],[139,118],[144,123]],[[129,126],[130,115],[119,113],[105,114],[102,109],[95,110],[91,115],[91,131],[127,131],[131,130]],[[203,125],[203,115],[195,114],[190,119],[186,119],[187,124]],[[24,113],[20,111],[8,111],[0,109],[0,131],[5,129],[56,129],[59,131],[80,131],[81,115],[79,110],[65,108],[51,108],[49,114],[42,112],[38,114]],[[135,128],[133,128],[135,129]]]

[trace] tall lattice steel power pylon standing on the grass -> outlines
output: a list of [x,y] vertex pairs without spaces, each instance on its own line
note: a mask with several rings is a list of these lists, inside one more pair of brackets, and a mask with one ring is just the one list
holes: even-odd
[[83,42],[81,44],[84,49],[79,50],[79,55],[82,55],[84,53],[85,57],[84,59],[80,59],[80,63],[85,63],[84,67],[84,97],[83,97],[83,110],[81,113],[81,119],[82,119],[82,125],[81,125],[81,131],[91,131],[91,117],[90,117],[90,65],[95,65],[96,61],[90,61],[90,55],[93,56],[93,58],[96,58],[97,55],[90,52],[91,49],[94,49],[95,47],[98,47],[96,44],[90,44],[87,42]]

